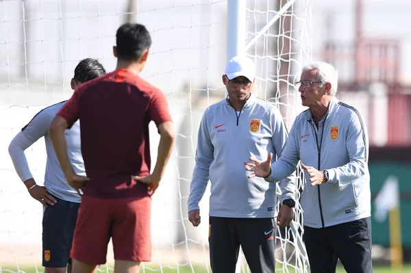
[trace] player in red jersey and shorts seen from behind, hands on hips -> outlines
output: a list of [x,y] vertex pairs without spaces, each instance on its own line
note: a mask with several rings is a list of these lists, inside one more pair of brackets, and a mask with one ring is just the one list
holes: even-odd
[[[150,45],[143,25],[121,25],[113,48],[116,70],[79,86],[50,125],[64,176],[84,194],[71,250],[76,273],[96,272],[105,263],[110,237],[114,272],[139,272],[140,261],[151,260],[151,194],[164,174],[175,132],[164,94],[138,76]],[[64,130],[77,119],[87,177],[75,174],[66,152]],[[160,144],[150,174],[151,120]]]

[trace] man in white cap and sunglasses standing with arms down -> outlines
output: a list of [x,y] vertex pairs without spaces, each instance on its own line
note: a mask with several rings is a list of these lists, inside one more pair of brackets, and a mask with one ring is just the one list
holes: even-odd
[[[253,61],[229,60],[223,75],[227,99],[211,105],[201,119],[195,169],[188,197],[188,220],[201,222],[199,202],[211,181],[210,261],[214,273],[234,273],[240,246],[251,272],[275,272],[275,183],[247,179],[249,157],[281,155],[288,132],[279,110],[251,94]],[[294,218],[295,181],[279,182],[283,206],[279,226]]]

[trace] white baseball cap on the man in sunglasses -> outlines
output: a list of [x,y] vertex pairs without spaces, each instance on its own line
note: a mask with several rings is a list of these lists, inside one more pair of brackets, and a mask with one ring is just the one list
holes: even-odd
[[227,75],[228,79],[234,79],[240,76],[246,77],[252,82],[256,77],[256,66],[249,57],[239,55],[227,62],[227,66],[225,66],[225,75]]

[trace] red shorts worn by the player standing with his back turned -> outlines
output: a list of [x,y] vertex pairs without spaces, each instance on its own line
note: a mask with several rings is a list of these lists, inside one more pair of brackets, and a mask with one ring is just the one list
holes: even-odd
[[151,261],[151,197],[103,199],[83,196],[71,258],[104,264],[112,237],[114,259]]

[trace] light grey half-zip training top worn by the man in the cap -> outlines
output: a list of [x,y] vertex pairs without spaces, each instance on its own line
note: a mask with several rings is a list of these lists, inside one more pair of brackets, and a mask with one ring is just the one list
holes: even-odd
[[[268,153],[275,159],[282,153],[287,135],[277,107],[253,94],[238,114],[226,99],[208,107],[199,127],[188,211],[199,209],[210,179],[210,216],[275,216],[276,185],[260,177],[247,179],[251,172],[245,170],[244,162],[251,156],[266,158]],[[282,179],[280,187],[283,199],[295,198],[294,179]]]

